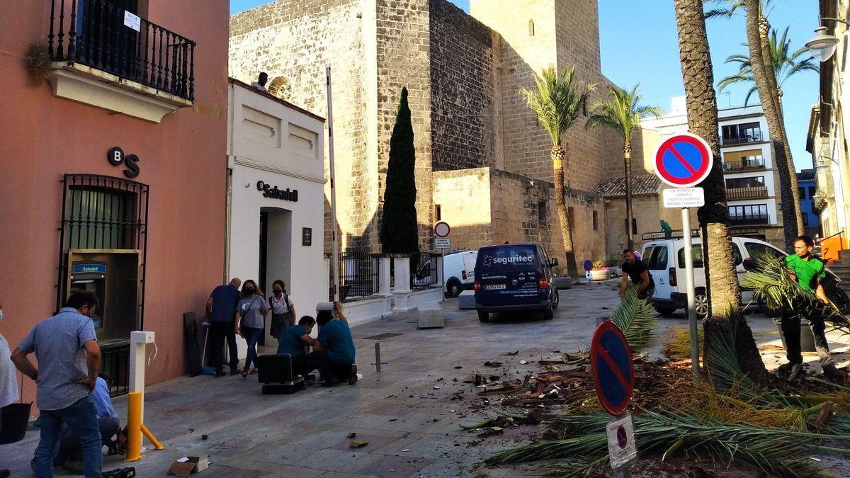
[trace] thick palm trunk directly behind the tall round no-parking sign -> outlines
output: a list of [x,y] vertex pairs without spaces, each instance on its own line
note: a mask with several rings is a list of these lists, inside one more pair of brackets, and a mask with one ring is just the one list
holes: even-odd
[[[717,131],[717,97],[711,73],[711,54],[703,18],[702,0],[675,0],[679,36],[679,59],[685,83],[690,132],[711,146],[715,158],[720,158],[720,138]],[[706,285],[710,310],[703,323],[705,331],[705,362],[709,372],[715,359],[712,344],[725,340],[729,333],[727,314],[740,304],[738,276],[732,259],[732,236],[729,233],[729,209],[723,169],[715,161],[711,173],[701,183],[706,192],[706,205],[697,215],[702,228],[703,257],[706,261]],[[757,381],[767,377],[761,356],[749,327],[739,331],[739,354],[744,357],[742,370]],[[757,359],[757,360],[756,360]]]

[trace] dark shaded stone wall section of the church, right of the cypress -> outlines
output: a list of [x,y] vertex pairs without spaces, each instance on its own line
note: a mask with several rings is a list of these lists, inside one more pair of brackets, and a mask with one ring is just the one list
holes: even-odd
[[448,0],[429,3],[433,169],[498,168],[499,37]]

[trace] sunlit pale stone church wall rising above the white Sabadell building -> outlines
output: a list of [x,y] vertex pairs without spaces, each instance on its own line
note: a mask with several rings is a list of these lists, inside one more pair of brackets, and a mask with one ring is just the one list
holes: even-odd
[[[331,66],[337,219],[343,250],[362,246],[377,208],[377,165],[367,154],[370,121],[363,107],[369,94],[363,78],[369,77],[367,71],[374,77],[374,64],[365,53],[369,35],[364,31],[363,13],[359,0],[278,0],[230,17],[231,77],[246,83],[254,82],[259,71],[269,73],[269,83],[285,77],[292,87],[289,101],[327,117],[325,68]],[[327,142],[323,156],[325,177],[329,177]],[[326,185],[329,195],[330,184]],[[326,200],[328,248],[329,218]]]

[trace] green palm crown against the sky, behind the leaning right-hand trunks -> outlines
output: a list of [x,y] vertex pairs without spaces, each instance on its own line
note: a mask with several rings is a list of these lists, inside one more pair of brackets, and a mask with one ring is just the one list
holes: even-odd
[[[777,100],[779,100],[779,105],[781,106],[783,94],[782,85],[785,84],[785,81],[787,81],[788,78],[793,77],[801,71],[814,71],[817,73],[820,71],[820,68],[815,63],[814,58],[811,55],[809,55],[806,59],[802,58],[803,55],[808,54],[808,48],[800,47],[791,51],[791,40],[788,39],[787,26],[785,27],[785,31],[782,32],[781,38],[777,38],[777,31],[774,28],[771,28],[770,35],[768,37],[768,44],[770,46],[770,60],[773,64],[774,76],[776,77],[777,83],[776,86],[778,88],[776,91],[776,97]],[[741,46],[749,47],[749,44],[741,43]],[[718,91],[722,93],[723,89],[737,83],[752,83],[752,87],[749,91],[747,91],[744,99],[744,105],[747,105],[750,102],[751,96],[758,91],[756,80],[752,76],[750,55],[733,54],[726,59],[726,63],[737,63],[739,70],[738,73],[720,80],[720,83],[717,83],[717,86],[720,87]]]

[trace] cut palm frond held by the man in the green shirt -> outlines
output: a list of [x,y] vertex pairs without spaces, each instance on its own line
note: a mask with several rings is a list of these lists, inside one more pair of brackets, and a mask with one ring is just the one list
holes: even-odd
[[831,301],[821,303],[791,277],[784,259],[771,255],[756,258],[756,269],[749,271],[741,286],[754,289],[772,310],[791,310],[798,316],[820,318],[833,327],[850,333],[850,321]]

